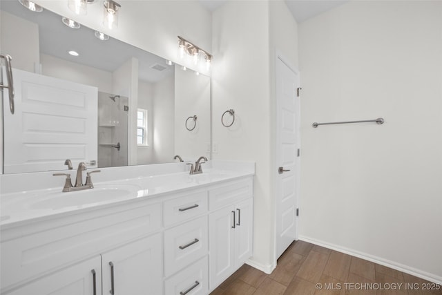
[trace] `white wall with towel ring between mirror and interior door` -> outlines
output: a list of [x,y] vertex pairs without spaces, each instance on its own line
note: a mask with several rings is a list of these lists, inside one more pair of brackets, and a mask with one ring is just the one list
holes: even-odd
[[[269,4],[227,1],[213,12],[212,132],[219,160],[256,161],[253,261],[273,260],[270,182]],[[233,108],[229,129],[220,120]]]

